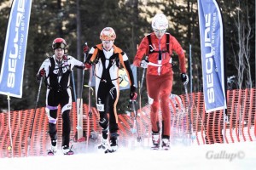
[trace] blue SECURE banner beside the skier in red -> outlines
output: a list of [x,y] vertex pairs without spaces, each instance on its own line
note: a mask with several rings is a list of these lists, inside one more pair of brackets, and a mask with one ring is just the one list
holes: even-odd
[[198,0],[201,64],[206,111],[226,108],[224,88],[224,32],[215,0]]

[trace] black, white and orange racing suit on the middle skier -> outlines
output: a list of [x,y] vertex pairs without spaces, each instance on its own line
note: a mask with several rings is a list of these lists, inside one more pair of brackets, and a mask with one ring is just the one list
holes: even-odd
[[[113,45],[111,50],[102,48],[102,43],[90,49],[87,63],[95,65],[96,76],[96,108],[100,113],[102,130],[108,129],[110,134],[117,133],[118,115],[116,105],[119,100],[119,68],[125,68],[130,85],[134,86],[134,78],[127,55]],[[109,113],[109,123],[108,114]]]

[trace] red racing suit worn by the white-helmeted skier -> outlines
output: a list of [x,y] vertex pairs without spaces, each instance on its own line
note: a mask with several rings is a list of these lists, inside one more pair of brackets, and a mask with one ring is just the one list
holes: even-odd
[[[169,96],[172,92],[173,71],[172,51],[175,51],[179,59],[179,68],[181,73],[186,72],[185,54],[180,43],[175,37],[169,37],[169,51],[167,51],[166,33],[158,39],[154,32],[150,34],[151,44],[148,42],[148,37],[144,37],[140,43],[137,54],[135,55],[133,65],[139,67],[143,56],[148,56],[148,69],[146,74],[146,83],[148,91],[148,103],[150,105],[150,119],[152,125],[152,133],[160,133],[159,109],[162,112],[162,138],[170,139],[171,133],[171,111],[169,109]],[[151,46],[151,47],[149,47]],[[149,50],[154,49],[154,53]],[[158,64],[150,65],[150,64]]]

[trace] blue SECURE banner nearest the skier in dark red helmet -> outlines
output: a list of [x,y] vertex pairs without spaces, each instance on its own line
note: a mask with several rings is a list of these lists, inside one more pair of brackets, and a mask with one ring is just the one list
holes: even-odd
[[32,0],[13,0],[0,75],[0,94],[22,97],[26,42]]

